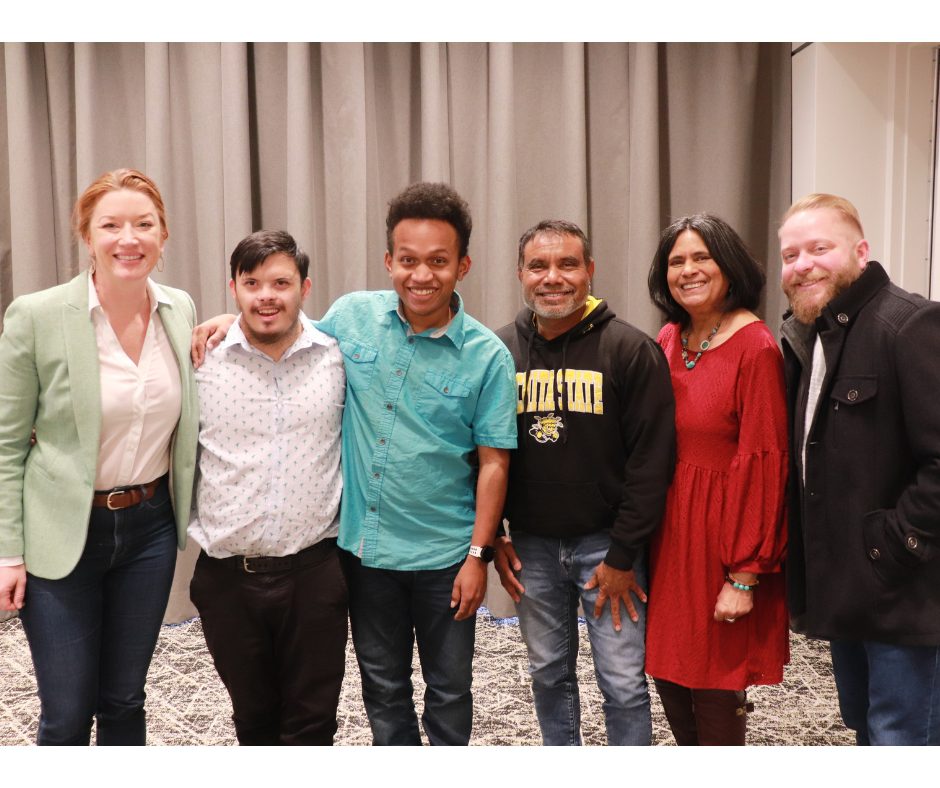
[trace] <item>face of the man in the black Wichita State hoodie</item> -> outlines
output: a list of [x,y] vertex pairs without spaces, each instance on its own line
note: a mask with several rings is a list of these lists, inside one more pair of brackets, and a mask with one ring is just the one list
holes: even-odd
[[522,300],[536,314],[539,332],[564,333],[581,319],[594,261],[584,259],[581,239],[560,233],[539,233],[522,254]]

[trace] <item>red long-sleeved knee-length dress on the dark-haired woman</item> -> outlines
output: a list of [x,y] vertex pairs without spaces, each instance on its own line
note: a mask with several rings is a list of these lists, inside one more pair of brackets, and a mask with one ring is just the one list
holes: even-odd
[[[692,370],[676,324],[659,343],[676,395],[677,462],[650,552],[646,672],[694,689],[777,684],[790,659],[780,350],[762,322],[739,329]],[[718,623],[715,602],[729,571],[756,572],[760,585],[748,615]]]

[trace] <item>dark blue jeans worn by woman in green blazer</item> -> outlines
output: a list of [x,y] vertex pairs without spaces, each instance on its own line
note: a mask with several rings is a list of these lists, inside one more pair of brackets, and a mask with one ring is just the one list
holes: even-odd
[[38,744],[145,744],[144,683],[176,566],[164,481],[137,506],[94,508],[78,564],[28,575],[20,611],[39,686]]

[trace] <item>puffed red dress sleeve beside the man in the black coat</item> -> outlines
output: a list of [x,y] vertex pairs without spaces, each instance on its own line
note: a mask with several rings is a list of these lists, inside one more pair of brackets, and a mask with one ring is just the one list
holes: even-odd
[[732,572],[779,572],[787,538],[787,408],[783,357],[769,333],[742,357],[735,404],[738,446],[728,474],[721,559]]

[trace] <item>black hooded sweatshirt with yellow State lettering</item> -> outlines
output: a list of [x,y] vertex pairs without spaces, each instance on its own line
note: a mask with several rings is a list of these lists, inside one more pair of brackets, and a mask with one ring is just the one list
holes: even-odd
[[610,529],[605,562],[627,570],[662,521],[675,401],[659,345],[605,302],[588,308],[550,341],[528,309],[497,332],[518,392],[506,518],[510,532],[553,538]]

